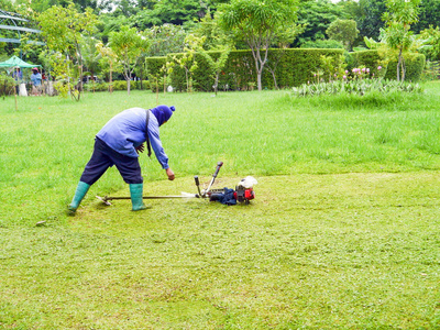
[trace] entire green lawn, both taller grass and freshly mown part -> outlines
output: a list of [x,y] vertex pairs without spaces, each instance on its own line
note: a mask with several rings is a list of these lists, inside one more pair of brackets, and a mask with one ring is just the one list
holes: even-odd
[[[440,85],[424,95],[173,94],[176,173],[145,195],[258,180],[250,206],[128,196],[65,216],[96,132],[151,92],[0,99],[0,328],[440,329]],[[43,226],[37,222],[45,221]]]

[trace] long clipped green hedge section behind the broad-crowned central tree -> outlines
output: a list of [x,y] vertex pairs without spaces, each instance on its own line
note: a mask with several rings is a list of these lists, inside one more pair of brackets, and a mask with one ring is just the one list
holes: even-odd
[[[263,72],[263,88],[274,88],[274,79],[270,68],[275,68],[275,77],[280,88],[299,86],[309,81],[314,77],[314,72],[321,65],[321,55],[339,57],[343,55],[343,50],[270,50],[268,62]],[[220,56],[219,52],[208,53],[212,58]],[[160,69],[166,62],[173,62],[183,54],[170,54],[167,57],[150,57],[146,59],[150,76],[158,76]],[[195,55],[197,69],[194,72],[195,90],[212,91],[215,79],[207,61],[200,55]],[[233,51],[229,54],[228,63],[221,72],[219,79],[219,90],[246,90],[256,82],[255,62],[251,51]],[[185,91],[186,86],[185,69],[178,64],[174,66],[170,75],[170,85],[178,91]]]

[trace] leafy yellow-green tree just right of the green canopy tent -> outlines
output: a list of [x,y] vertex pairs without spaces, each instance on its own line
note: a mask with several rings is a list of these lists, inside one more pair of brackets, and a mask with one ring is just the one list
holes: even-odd
[[[80,99],[82,90],[82,62],[81,45],[84,44],[84,35],[94,31],[97,16],[91,9],[87,9],[84,13],[78,12],[75,4],[70,3],[67,8],[53,6],[37,16],[37,21],[47,47],[63,56],[53,57],[55,61],[66,61],[67,65],[57,64],[54,68],[61,69],[56,75],[66,76],[67,88],[72,97],[76,97],[74,85],[70,81],[70,67],[68,62],[73,62],[77,66],[79,75],[79,88],[77,100]],[[67,69],[67,72],[65,72]]]

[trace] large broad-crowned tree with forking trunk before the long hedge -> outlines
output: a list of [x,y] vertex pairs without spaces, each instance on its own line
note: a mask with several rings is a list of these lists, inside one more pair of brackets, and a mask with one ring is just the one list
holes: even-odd
[[262,73],[275,33],[296,20],[294,4],[293,0],[232,0],[221,8],[222,29],[237,32],[251,48],[258,90],[262,90]]

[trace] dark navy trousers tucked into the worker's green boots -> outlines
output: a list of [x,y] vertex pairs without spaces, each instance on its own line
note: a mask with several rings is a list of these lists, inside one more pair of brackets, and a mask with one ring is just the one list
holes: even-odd
[[95,141],[94,154],[79,180],[91,186],[113,165],[117,166],[125,183],[143,183],[139,160],[116,152],[98,138]]

